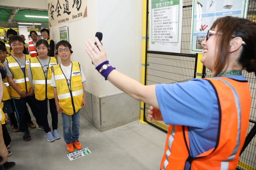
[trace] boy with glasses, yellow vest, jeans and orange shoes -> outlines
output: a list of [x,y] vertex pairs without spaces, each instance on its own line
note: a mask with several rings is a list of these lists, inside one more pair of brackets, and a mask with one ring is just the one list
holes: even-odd
[[[55,104],[57,112],[61,113],[63,136],[67,144],[67,151],[73,152],[82,149],[78,140],[80,108],[86,105],[84,85],[86,81],[79,63],[71,62],[73,53],[68,41],[60,41],[56,44],[56,53],[61,58],[61,63],[52,66],[51,86],[54,87]],[[72,132],[71,123],[72,120]],[[73,146],[74,145],[74,146]]]

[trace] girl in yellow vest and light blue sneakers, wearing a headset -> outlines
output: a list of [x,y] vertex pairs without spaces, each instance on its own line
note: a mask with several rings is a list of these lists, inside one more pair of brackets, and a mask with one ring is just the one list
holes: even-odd
[[[54,100],[53,87],[51,87],[52,71],[51,66],[57,65],[57,60],[54,57],[49,57],[49,44],[46,40],[38,40],[36,42],[36,52],[38,56],[30,58],[28,65],[28,79],[35,90],[35,98],[39,105],[39,118],[41,125],[44,127],[45,137],[48,142],[61,138],[58,128],[58,113]],[[52,133],[48,123],[48,100],[50,105],[52,119]]]

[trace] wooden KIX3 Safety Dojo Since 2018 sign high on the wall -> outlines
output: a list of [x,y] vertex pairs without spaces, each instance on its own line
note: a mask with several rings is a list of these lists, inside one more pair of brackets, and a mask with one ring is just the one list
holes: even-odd
[[48,4],[49,26],[87,17],[87,0],[53,0]]

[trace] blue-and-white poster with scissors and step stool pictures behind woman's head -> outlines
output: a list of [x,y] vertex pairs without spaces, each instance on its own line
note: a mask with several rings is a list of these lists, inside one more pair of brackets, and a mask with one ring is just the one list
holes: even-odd
[[193,0],[191,52],[202,53],[201,42],[206,39],[213,22],[227,15],[246,18],[248,0]]

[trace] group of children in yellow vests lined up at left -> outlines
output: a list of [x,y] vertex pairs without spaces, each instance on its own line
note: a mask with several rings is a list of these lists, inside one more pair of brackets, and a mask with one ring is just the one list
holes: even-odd
[[[24,44],[24,40],[18,35],[10,37],[9,45],[13,52],[11,56],[7,56],[6,48],[0,46],[0,60],[6,71],[3,87],[7,89],[4,90],[1,110],[4,113],[7,112],[3,108],[11,110],[8,112],[8,117],[13,127],[17,129],[15,110],[19,126],[17,131],[23,132],[25,141],[31,139],[28,126],[33,124],[26,103],[36,118],[38,128],[45,131],[45,137],[49,142],[61,138],[57,130],[58,113],[60,113],[63,119],[63,137],[67,151],[73,152],[74,147],[77,150],[82,149],[78,140],[79,119],[80,108],[86,105],[83,85],[86,78],[79,63],[70,61],[70,56],[73,53],[71,44],[64,40],[56,44],[55,54],[61,58],[60,64],[57,64],[54,57],[49,57],[50,47],[46,40],[36,42],[38,55],[35,57],[23,54]],[[48,101],[52,118],[52,132],[47,118]],[[33,128],[35,127],[34,125]]]

